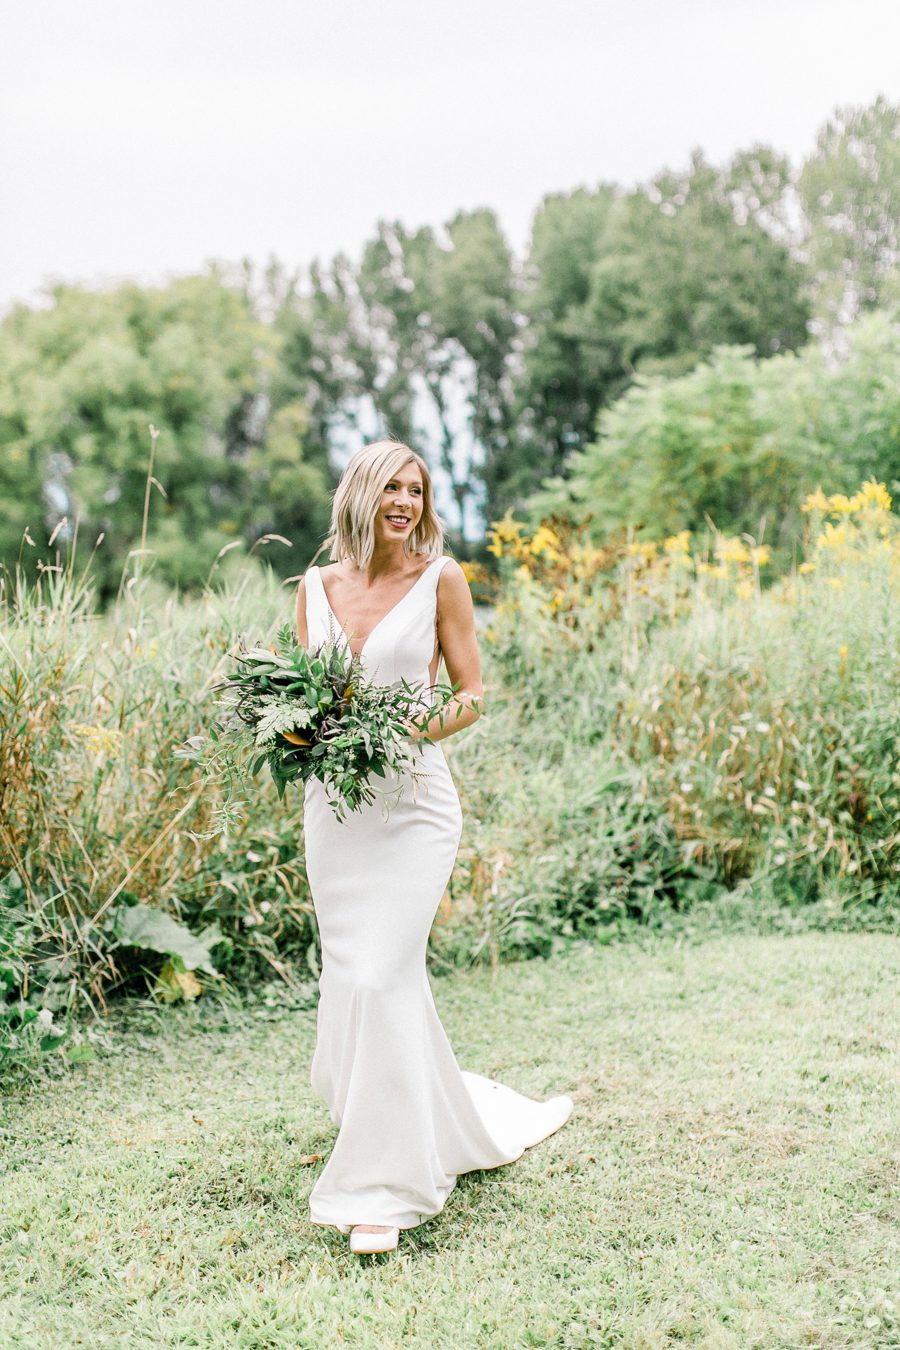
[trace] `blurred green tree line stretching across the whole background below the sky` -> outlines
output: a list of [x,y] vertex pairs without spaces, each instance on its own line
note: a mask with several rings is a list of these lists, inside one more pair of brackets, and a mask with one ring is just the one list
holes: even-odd
[[[0,324],[0,560],[36,570],[77,520],[82,556],[103,536],[92,566],[109,594],[140,544],[150,474],[147,547],[162,579],[201,585],[236,541],[271,545],[289,575],[327,529],[341,455],[381,435],[429,456],[460,548],[466,532],[474,547],[487,521],[534,504],[599,506],[603,528],[636,512],[654,522],[648,483],[665,505],[661,526],[708,506],[731,517],[723,528],[758,521],[777,495],[760,497],[760,483],[785,459],[777,393],[754,396],[770,405],[769,421],[753,414],[766,428],[765,473],[743,464],[690,509],[672,506],[648,400],[669,421],[679,398],[690,405],[679,490],[729,477],[721,460],[734,452],[704,401],[727,404],[729,436],[756,447],[758,468],[756,432],[741,440],[735,425],[750,367],[812,342],[818,355],[799,369],[822,392],[857,320],[896,310],[899,131],[900,108],[877,99],[838,109],[799,167],[768,146],[718,166],[696,151],[633,189],[548,196],[524,258],[484,208],[440,228],[381,221],[358,259],[337,254],[305,274],[273,261],[159,288],[54,286],[45,306],[16,306]],[[869,339],[888,363],[892,331]],[[711,393],[716,371],[731,396]],[[800,424],[803,389],[792,387]],[[827,460],[820,448],[804,456],[785,459],[791,501],[800,459],[803,473]],[[860,452],[854,468],[872,459]]]

